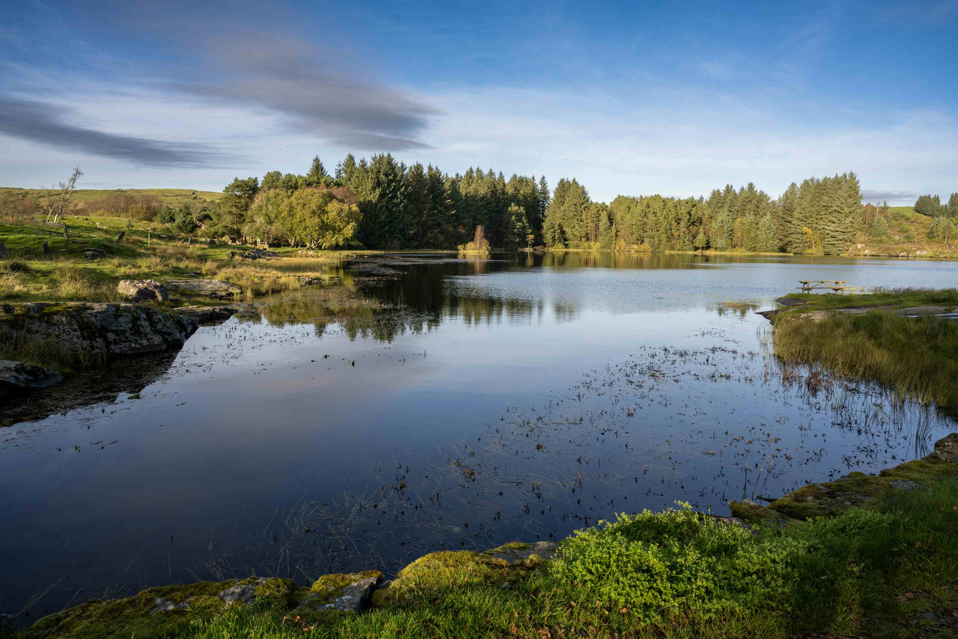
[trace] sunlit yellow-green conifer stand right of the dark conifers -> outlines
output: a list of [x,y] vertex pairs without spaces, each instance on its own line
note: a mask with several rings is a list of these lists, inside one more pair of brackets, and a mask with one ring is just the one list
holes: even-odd
[[867,231],[862,212],[854,172],[792,183],[777,200],[749,183],[708,199],[620,195],[607,206],[592,202],[576,180],[560,180],[543,236],[568,248],[838,254]]

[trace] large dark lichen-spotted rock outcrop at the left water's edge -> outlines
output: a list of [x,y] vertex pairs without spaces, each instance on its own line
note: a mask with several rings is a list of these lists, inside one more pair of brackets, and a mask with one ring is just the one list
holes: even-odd
[[136,304],[0,303],[0,339],[25,331],[75,354],[159,353],[183,346],[198,327],[189,317]]

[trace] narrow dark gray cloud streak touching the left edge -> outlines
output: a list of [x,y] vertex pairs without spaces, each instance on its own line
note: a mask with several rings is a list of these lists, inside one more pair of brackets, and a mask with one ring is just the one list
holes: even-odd
[[71,149],[138,166],[208,169],[234,166],[241,158],[211,145],[165,142],[70,123],[72,109],[0,96],[0,134],[59,149]]

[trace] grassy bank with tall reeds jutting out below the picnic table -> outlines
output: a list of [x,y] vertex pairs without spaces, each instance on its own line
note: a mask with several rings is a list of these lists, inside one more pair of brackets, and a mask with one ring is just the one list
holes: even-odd
[[[901,399],[958,407],[958,323],[901,316],[899,308],[958,308],[958,289],[878,290],[868,295],[789,295],[806,304],[774,318],[782,361],[877,381]],[[855,309],[855,313],[838,312]],[[822,313],[820,311],[836,311]]]

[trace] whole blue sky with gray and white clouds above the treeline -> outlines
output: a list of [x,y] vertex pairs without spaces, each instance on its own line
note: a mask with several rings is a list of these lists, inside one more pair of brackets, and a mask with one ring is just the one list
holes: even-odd
[[347,152],[595,199],[958,192],[958,0],[12,3],[0,185],[220,190]]

